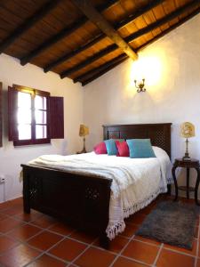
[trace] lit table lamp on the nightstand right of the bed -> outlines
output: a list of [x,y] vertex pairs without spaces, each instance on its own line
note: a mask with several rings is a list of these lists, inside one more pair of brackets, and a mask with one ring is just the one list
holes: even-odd
[[195,136],[195,125],[184,122],[180,125],[180,135],[186,138],[186,152],[182,160],[191,160],[188,154],[188,138]]

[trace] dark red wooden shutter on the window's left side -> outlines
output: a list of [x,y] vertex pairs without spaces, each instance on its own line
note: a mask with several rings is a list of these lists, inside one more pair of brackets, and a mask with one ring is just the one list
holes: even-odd
[[8,86],[8,140],[9,141],[14,141],[18,137],[17,98],[18,98],[18,91]]

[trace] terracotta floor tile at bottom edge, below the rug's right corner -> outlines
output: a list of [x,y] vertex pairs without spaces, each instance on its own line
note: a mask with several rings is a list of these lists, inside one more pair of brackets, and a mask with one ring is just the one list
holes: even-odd
[[194,267],[195,258],[189,255],[162,249],[158,257],[156,267]]

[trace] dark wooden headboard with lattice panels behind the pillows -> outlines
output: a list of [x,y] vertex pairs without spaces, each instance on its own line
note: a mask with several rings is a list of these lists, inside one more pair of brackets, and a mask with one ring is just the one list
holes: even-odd
[[103,125],[104,140],[113,138],[149,138],[153,146],[160,147],[171,158],[171,123],[145,125]]

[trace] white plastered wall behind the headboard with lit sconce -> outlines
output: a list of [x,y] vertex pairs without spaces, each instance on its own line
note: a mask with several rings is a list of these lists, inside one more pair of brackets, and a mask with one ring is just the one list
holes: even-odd
[[[133,80],[146,78],[146,93]],[[87,149],[102,140],[103,124],[172,123],[172,160],[182,157],[180,124],[196,125],[189,152],[200,159],[200,15],[84,86],[84,123],[90,127]],[[180,177],[179,182],[184,183]],[[195,172],[192,172],[192,183]]]

